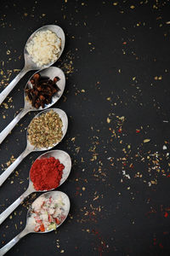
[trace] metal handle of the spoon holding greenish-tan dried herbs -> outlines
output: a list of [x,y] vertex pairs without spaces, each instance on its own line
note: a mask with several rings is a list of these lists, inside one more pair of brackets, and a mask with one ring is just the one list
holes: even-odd
[[14,161],[13,164],[8,166],[8,168],[0,175],[0,186],[4,183],[4,181],[8,178],[11,172],[20,164],[20,162],[26,157],[27,154],[30,154],[31,150],[26,147],[26,149],[20,154],[20,156]]

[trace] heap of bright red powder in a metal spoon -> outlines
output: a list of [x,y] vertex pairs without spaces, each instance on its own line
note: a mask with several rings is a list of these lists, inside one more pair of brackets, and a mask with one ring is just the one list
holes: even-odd
[[50,190],[59,186],[65,166],[54,157],[36,160],[31,166],[30,177],[36,190]]

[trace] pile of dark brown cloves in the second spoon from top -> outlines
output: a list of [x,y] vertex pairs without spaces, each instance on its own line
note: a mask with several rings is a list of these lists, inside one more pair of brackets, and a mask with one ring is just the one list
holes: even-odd
[[52,97],[59,91],[57,82],[58,77],[54,80],[48,77],[42,77],[40,73],[36,73],[31,78],[30,82],[26,85],[26,100],[31,102],[31,106],[34,108],[45,107],[45,104],[50,104]]

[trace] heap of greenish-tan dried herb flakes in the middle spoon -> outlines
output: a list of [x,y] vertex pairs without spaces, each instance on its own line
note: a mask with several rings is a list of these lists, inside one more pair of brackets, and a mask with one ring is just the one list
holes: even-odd
[[28,140],[35,148],[53,147],[62,138],[62,126],[62,120],[54,110],[42,113],[31,121],[28,127]]

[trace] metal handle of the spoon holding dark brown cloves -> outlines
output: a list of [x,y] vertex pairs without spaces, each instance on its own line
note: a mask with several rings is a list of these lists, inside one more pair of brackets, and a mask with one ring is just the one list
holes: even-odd
[[20,121],[21,118],[25,116],[26,113],[28,113],[28,108],[23,108],[19,114],[7,125],[3,131],[0,133],[0,144],[3,143],[3,140],[8,136],[9,132],[13,130],[14,126]]

